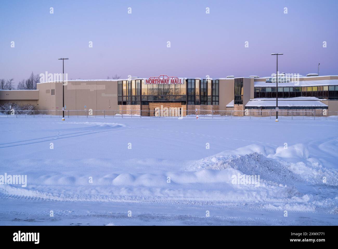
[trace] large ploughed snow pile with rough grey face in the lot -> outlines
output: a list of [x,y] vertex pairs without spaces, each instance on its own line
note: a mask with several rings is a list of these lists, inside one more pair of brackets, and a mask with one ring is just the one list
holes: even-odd
[[[306,144],[280,146],[248,145],[228,150],[192,163],[187,170],[234,168],[243,174],[258,174],[261,179],[282,184],[295,181],[338,186],[338,172],[327,169],[321,161],[310,158]],[[323,182],[326,181],[326,182]]]

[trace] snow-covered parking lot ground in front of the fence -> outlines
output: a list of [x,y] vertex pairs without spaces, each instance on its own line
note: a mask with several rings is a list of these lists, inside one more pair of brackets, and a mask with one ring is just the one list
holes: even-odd
[[0,127],[0,180],[27,175],[0,185],[0,225],[338,225],[337,119]]

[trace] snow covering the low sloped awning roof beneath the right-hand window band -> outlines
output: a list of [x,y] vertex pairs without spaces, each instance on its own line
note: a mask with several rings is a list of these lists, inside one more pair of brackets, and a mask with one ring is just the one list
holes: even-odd
[[[314,106],[314,107],[328,107],[324,103],[320,102],[319,100],[307,99],[307,98],[315,98],[315,97],[303,97],[303,99],[297,99],[302,97],[296,98],[285,98],[285,99],[278,99],[278,106]],[[276,106],[276,99],[265,100],[266,98],[259,98],[259,99],[250,99],[245,106]],[[317,98],[315,98],[317,99]]]

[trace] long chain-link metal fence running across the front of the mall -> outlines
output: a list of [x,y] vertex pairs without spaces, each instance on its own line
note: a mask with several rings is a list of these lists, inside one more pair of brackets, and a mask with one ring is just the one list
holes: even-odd
[[[2,113],[2,114],[1,114]],[[0,110],[0,117],[32,117],[32,118],[55,118],[62,117],[62,110]],[[198,119],[274,119],[276,110],[197,110]],[[196,110],[65,110],[65,117],[112,117],[112,118],[193,118],[196,117]],[[315,110],[278,110],[278,118],[283,119],[337,119],[338,111],[327,109]]]

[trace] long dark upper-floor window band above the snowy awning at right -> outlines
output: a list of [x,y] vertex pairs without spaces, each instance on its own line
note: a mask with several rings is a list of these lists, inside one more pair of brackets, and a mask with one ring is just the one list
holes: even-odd
[[[278,87],[278,98],[293,97],[338,100],[338,86]],[[276,98],[276,87],[255,87],[254,98]]]

